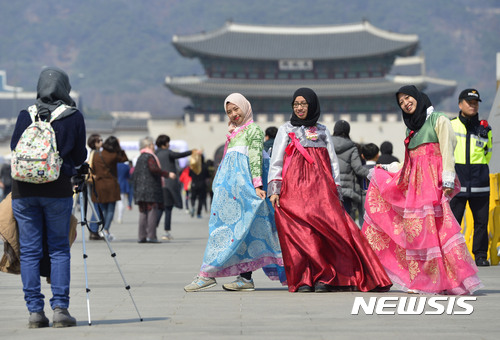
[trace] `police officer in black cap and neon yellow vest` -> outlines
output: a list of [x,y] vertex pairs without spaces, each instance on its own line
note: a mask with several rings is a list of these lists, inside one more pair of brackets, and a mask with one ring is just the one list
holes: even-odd
[[458,97],[460,112],[451,120],[457,138],[455,170],[462,188],[450,202],[458,222],[462,221],[469,202],[474,218],[472,253],[476,265],[489,266],[488,217],[490,202],[490,171],[492,139],[491,127],[486,120],[479,120],[481,97],[476,89],[465,89]]

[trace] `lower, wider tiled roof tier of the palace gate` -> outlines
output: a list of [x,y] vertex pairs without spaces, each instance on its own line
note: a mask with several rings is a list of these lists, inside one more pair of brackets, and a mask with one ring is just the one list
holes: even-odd
[[425,76],[395,76],[385,78],[343,80],[253,80],[213,79],[205,76],[167,77],[165,85],[184,97],[227,96],[239,92],[249,97],[289,98],[299,87],[310,87],[320,97],[360,97],[395,93],[402,85],[414,84],[420,88],[433,85],[436,89],[454,89],[455,81]]

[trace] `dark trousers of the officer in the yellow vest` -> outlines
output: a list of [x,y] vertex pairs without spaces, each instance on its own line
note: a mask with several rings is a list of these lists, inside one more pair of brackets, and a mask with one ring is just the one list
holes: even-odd
[[462,223],[465,206],[469,201],[472,217],[474,218],[474,239],[472,242],[472,253],[477,259],[488,257],[488,218],[490,214],[490,197],[454,197],[451,202],[451,210],[458,223]]

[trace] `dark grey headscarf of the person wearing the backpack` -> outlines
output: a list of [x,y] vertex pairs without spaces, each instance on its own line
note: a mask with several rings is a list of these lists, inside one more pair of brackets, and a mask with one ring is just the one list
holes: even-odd
[[[61,104],[76,106],[69,95],[71,91],[69,77],[66,72],[57,67],[47,67],[40,73],[36,91],[36,104],[41,117],[48,116]],[[68,116],[75,111],[76,108],[66,110],[63,116]]]

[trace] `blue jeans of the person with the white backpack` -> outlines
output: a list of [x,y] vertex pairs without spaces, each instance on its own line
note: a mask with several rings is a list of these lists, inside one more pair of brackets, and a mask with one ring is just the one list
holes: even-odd
[[44,308],[40,285],[44,236],[51,266],[50,306],[52,309],[69,306],[69,225],[72,205],[71,197],[25,197],[12,200],[12,210],[19,227],[24,300],[30,312],[41,312]]

